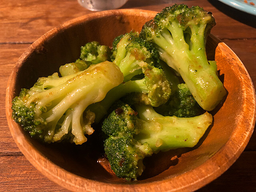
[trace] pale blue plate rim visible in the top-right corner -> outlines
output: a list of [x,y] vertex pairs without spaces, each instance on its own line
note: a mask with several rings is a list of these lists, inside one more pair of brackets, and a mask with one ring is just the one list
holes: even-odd
[[256,8],[237,0],[218,0],[228,6],[256,16]]

